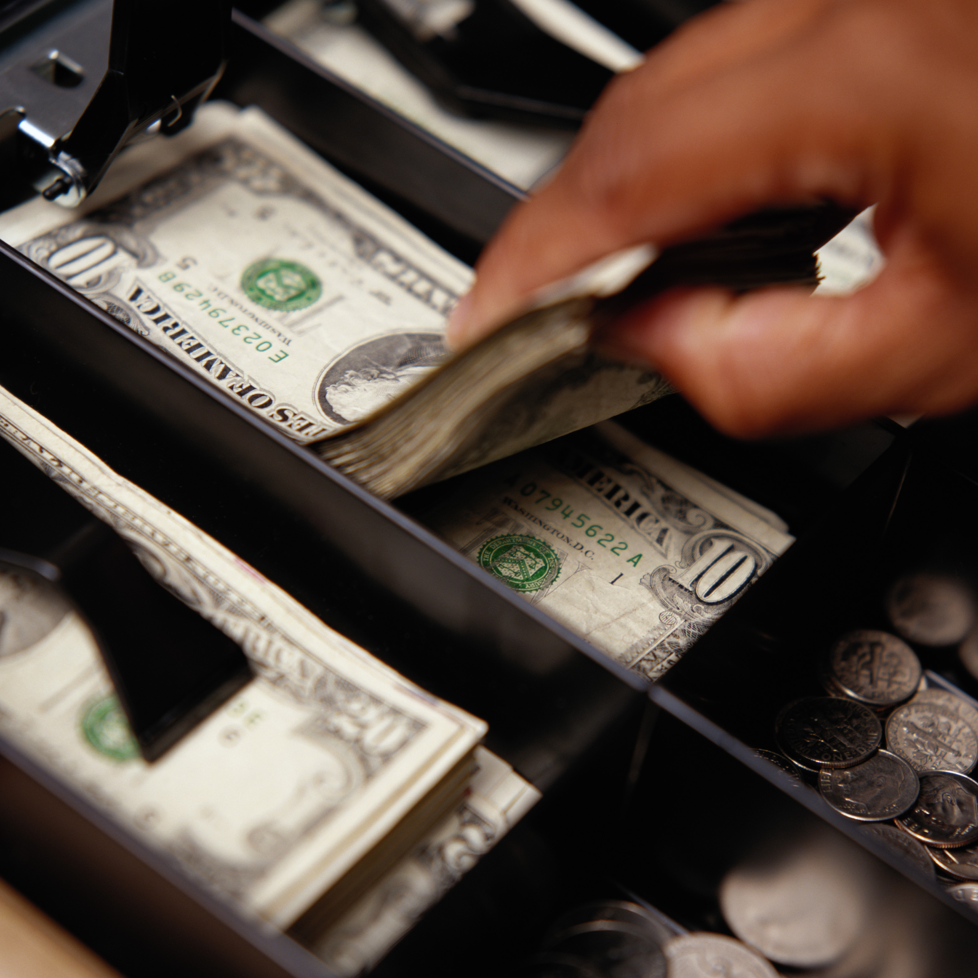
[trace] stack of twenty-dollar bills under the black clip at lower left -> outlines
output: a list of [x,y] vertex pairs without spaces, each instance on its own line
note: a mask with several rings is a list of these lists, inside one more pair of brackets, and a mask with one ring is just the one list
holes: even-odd
[[2,389],[0,436],[242,645],[258,677],[147,765],[79,618],[36,581],[0,575],[0,730],[39,763],[277,926],[459,778],[481,721],[343,639]]

